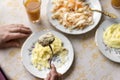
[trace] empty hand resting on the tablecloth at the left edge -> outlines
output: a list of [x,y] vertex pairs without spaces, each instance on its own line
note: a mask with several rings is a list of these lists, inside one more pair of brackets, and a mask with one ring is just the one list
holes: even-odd
[[30,28],[22,24],[0,26],[0,48],[20,47],[19,39],[31,34]]

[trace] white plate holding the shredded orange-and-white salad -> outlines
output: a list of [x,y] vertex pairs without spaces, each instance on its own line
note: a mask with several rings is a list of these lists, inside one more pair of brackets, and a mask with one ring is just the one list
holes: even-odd
[[[67,33],[67,34],[73,34],[73,35],[78,35],[78,34],[83,34],[83,33],[86,33],[90,30],[92,30],[100,21],[101,19],[101,13],[98,13],[98,12],[94,12],[93,14],[93,20],[94,20],[94,24],[91,25],[91,26],[87,26],[85,29],[83,30],[72,30],[70,31],[69,29],[66,29],[63,25],[59,24],[59,22],[57,20],[53,20],[51,18],[51,9],[53,7],[52,5],[52,0],[49,0],[49,3],[48,3],[48,7],[47,7],[47,15],[48,15],[48,19],[49,19],[49,22],[58,30],[64,32],[64,33]],[[86,0],[86,2],[88,2],[90,4],[90,7],[92,9],[97,9],[97,10],[102,10],[101,9],[101,5],[100,5],[100,2],[99,0]]]

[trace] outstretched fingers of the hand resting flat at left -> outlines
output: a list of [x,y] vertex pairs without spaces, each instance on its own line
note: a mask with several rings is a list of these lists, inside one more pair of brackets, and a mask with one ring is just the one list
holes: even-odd
[[26,38],[31,33],[30,28],[27,28],[22,24],[8,25],[7,30],[9,31],[6,34],[4,34],[4,37],[3,37],[4,42],[13,40],[13,39]]

